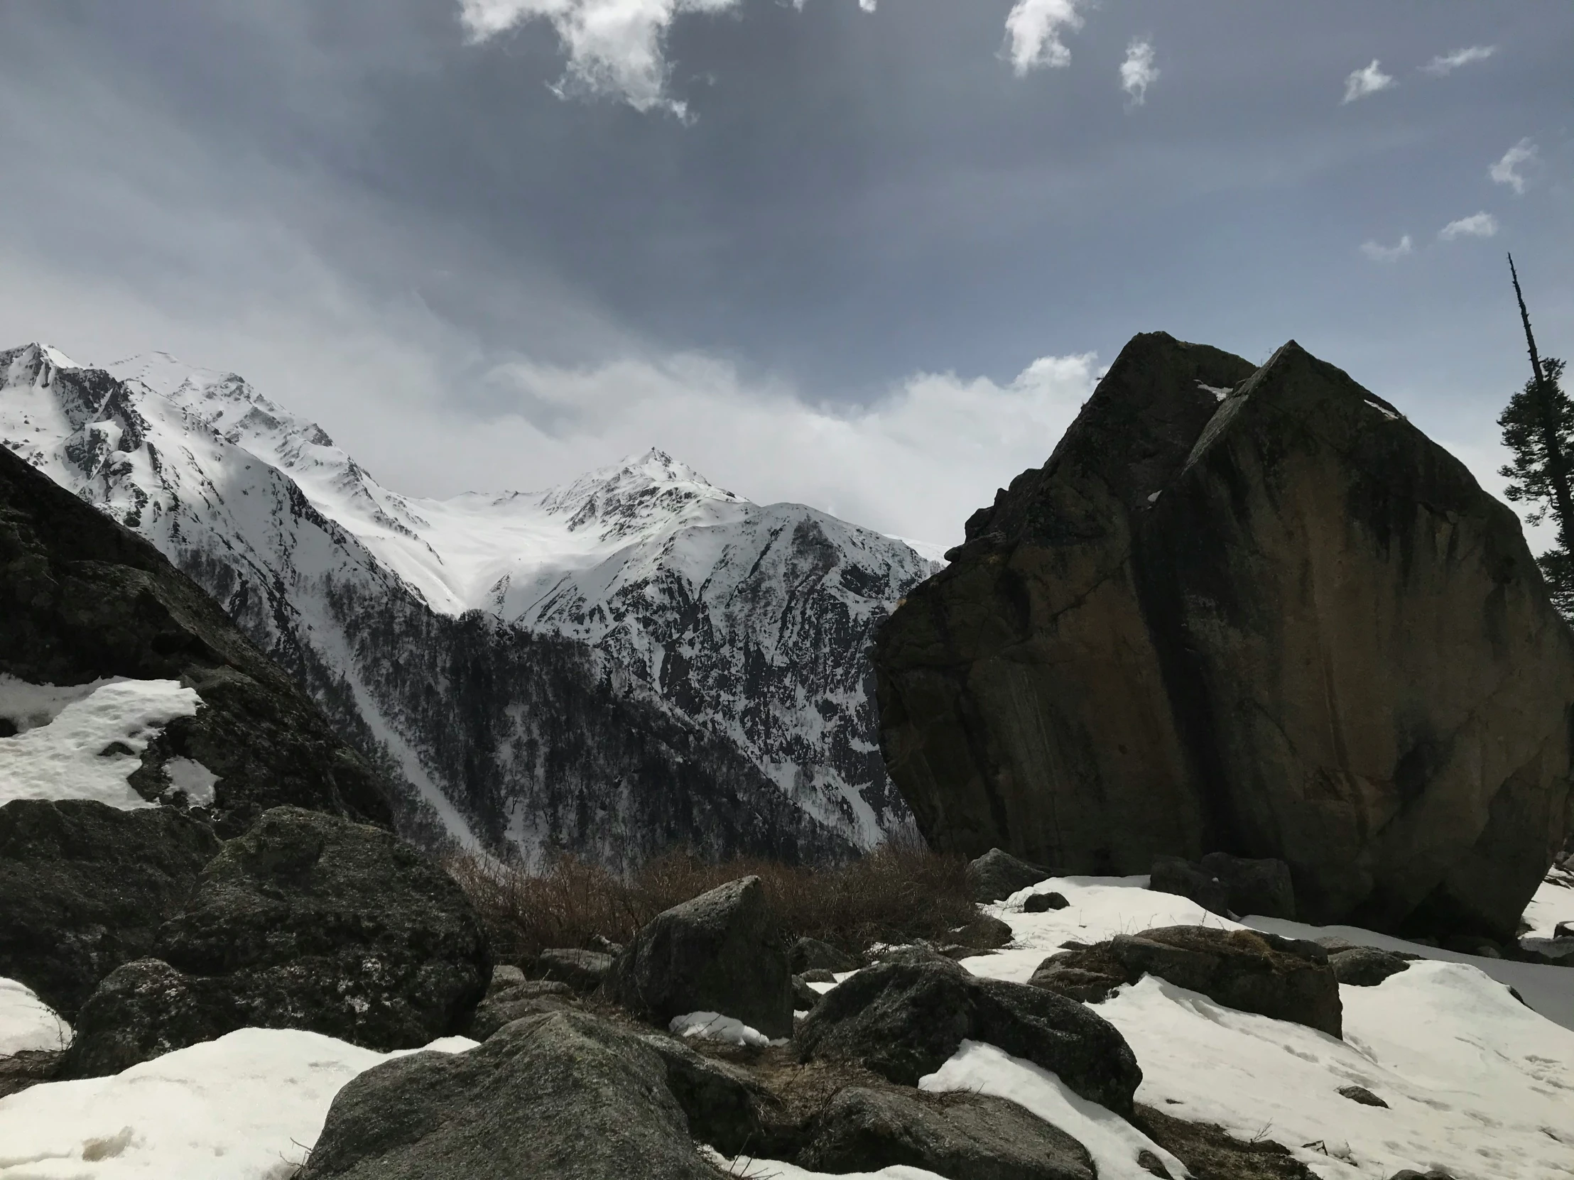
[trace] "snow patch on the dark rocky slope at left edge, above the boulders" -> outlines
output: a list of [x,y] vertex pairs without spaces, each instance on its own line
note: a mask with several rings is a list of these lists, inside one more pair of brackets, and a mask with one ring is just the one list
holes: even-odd
[[[151,807],[126,776],[142,765],[142,752],[159,730],[200,705],[195,689],[178,680],[55,688],[0,675],[0,716],[17,730],[0,738],[0,804],[98,799],[123,810]],[[198,763],[192,766],[208,774]]]

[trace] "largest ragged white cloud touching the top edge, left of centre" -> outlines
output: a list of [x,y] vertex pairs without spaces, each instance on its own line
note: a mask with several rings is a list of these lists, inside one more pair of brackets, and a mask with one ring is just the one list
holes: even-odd
[[549,20],[568,52],[568,71],[554,87],[609,94],[634,110],[671,110],[683,102],[666,94],[667,28],[682,13],[722,13],[738,0],[460,0],[460,20],[474,41],[505,33],[526,20]]

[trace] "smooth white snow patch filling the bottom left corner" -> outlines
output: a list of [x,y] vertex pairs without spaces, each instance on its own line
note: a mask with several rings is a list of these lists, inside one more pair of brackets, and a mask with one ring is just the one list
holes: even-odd
[[0,1098],[0,1180],[286,1180],[345,1082],[398,1056],[241,1029],[112,1078],[35,1086]]

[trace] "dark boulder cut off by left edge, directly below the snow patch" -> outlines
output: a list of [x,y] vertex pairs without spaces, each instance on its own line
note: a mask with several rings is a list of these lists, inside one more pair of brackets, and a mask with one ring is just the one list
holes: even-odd
[[74,1023],[101,979],[151,953],[159,927],[219,848],[206,824],[173,807],[8,802],[0,807],[0,975]]

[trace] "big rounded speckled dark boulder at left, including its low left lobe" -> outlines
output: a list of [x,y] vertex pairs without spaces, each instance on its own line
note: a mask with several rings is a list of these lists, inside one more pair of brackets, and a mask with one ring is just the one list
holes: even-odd
[[296,807],[224,846],[154,953],[82,1007],[72,1076],[244,1026],[417,1048],[464,1029],[491,977],[480,919],[445,873],[390,832]]

